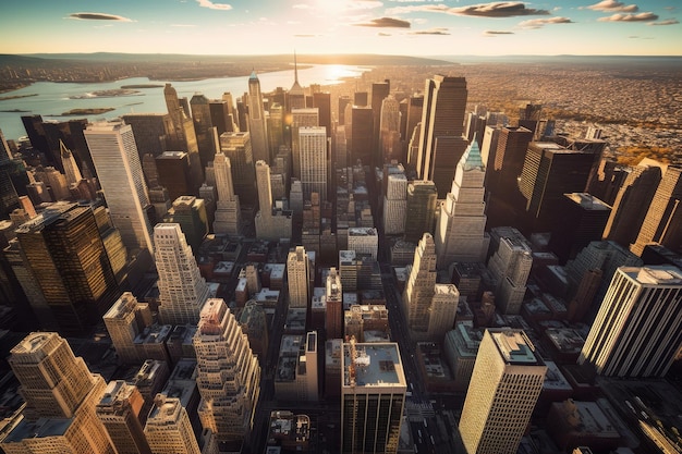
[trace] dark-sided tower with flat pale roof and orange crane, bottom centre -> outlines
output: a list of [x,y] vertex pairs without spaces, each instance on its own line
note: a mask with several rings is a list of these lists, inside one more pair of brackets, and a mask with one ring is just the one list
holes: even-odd
[[342,344],[341,452],[397,453],[407,382],[397,343]]

